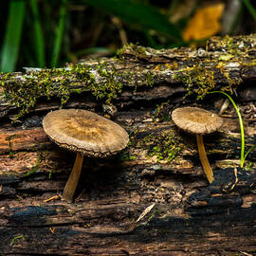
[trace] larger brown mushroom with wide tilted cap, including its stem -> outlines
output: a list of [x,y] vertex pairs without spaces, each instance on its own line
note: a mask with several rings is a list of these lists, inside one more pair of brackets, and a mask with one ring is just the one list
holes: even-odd
[[43,119],[46,135],[62,148],[77,153],[72,172],[64,187],[63,198],[72,202],[81,170],[83,155],[106,157],[127,146],[129,136],[119,124],[82,109],[49,112]]

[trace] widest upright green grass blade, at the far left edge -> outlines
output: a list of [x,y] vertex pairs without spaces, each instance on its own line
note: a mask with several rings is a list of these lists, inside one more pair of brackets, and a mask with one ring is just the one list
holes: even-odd
[[1,71],[11,72],[18,59],[22,28],[25,17],[25,0],[9,1],[9,16],[2,46]]

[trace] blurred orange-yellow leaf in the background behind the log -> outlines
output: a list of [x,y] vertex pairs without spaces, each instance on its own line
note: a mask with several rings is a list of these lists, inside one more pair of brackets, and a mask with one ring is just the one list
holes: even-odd
[[185,41],[200,40],[216,34],[220,28],[224,3],[213,4],[197,9],[183,32]]

